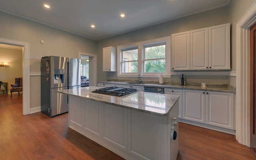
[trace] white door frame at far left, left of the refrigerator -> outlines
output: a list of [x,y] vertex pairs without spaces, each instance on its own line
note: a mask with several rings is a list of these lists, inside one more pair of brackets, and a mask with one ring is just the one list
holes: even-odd
[[22,46],[22,76],[23,76],[23,88],[22,88],[22,110],[23,115],[30,114],[30,43],[18,40],[11,40],[6,38],[0,38],[0,43],[9,44],[14,46]]

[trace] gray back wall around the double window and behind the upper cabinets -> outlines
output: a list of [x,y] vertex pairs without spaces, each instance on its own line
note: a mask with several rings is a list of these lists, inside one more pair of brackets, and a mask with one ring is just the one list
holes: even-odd
[[[206,12],[201,12],[198,14],[193,14],[176,20],[171,20],[140,30],[135,30],[133,32],[128,32],[118,36],[106,38],[104,40],[97,41],[97,54],[98,54],[98,81],[119,79],[116,76],[116,72],[103,72],[102,71],[102,48],[107,46],[113,46],[117,48],[119,45],[129,44],[132,42],[139,42],[143,40],[150,40],[154,38],[160,38],[164,36],[170,36],[173,33],[184,32],[188,30],[194,30],[209,26],[215,26],[219,24],[230,23],[230,12],[229,6],[224,6],[209,10]],[[232,69],[235,68],[231,66]],[[164,81],[178,81],[179,76],[172,76],[171,79],[167,78]],[[228,76],[186,76],[187,82],[206,82],[206,83],[220,83],[227,84]],[[136,78],[129,78],[136,80]],[[157,78],[147,78],[147,80],[156,80]]]

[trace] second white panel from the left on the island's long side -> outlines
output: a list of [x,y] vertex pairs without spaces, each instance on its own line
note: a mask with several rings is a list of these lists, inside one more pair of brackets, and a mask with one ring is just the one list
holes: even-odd
[[100,136],[100,110],[98,102],[84,99],[84,129]]

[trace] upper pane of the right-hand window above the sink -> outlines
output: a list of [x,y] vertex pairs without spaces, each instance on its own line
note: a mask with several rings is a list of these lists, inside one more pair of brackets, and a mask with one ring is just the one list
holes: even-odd
[[165,58],[165,44],[145,47],[145,59]]

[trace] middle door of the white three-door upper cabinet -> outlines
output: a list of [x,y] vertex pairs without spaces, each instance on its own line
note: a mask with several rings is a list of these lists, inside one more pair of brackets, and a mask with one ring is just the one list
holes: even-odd
[[190,70],[208,68],[208,28],[190,31]]

